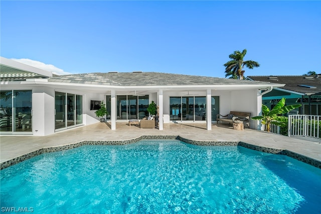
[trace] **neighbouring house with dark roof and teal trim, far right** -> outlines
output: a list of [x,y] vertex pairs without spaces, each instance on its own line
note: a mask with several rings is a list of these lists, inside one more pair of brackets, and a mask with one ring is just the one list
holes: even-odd
[[269,108],[282,98],[286,105],[301,104],[298,114],[321,115],[321,76],[248,76],[246,79],[285,84],[273,88],[262,96],[262,103]]

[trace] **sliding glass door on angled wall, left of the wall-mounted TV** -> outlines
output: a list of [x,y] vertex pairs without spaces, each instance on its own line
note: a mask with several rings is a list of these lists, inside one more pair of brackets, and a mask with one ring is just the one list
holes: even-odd
[[55,93],[55,129],[61,130],[82,124],[82,96]]

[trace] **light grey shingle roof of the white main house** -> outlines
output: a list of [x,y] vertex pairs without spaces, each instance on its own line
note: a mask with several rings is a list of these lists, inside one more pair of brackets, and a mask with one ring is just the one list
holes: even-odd
[[250,80],[233,80],[217,77],[192,76],[157,72],[127,73],[89,73],[64,75],[49,78],[49,82],[68,82],[78,84],[157,86],[157,85],[255,85],[269,84]]

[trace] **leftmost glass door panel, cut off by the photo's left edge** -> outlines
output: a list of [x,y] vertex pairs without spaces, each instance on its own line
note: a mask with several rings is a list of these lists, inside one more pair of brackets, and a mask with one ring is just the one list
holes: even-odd
[[12,91],[0,94],[0,131],[12,131]]

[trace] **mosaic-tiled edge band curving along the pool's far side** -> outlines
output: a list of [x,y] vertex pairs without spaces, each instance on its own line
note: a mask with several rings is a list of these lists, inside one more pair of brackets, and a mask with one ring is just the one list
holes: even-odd
[[30,159],[32,157],[35,157],[37,155],[48,153],[48,152],[56,152],[56,151],[63,151],[68,149],[77,148],[79,146],[83,145],[126,145],[130,143],[135,143],[140,140],[145,139],[171,139],[171,140],[180,140],[185,143],[193,144],[193,145],[200,145],[200,146],[242,146],[245,148],[249,148],[252,150],[260,151],[260,152],[266,152],[266,153],[272,153],[272,154],[281,154],[286,155],[289,157],[292,157],[296,160],[299,160],[301,162],[307,163],[309,165],[315,166],[317,168],[321,169],[321,161],[315,160],[313,158],[304,156],[302,154],[298,154],[296,152],[287,150],[287,149],[278,149],[278,148],[269,148],[264,146],[257,146],[250,143],[246,143],[243,141],[203,141],[203,140],[191,140],[184,138],[180,135],[141,135],[139,137],[135,137],[128,140],[83,140],[76,143],[69,143],[65,145],[59,145],[59,146],[50,146],[50,147],[43,147],[41,149],[37,149],[35,151],[29,152],[27,154],[23,154],[21,156],[12,158],[10,160],[4,161],[0,163],[0,169],[7,168],[9,166],[15,165],[19,162],[22,162],[24,160]]

